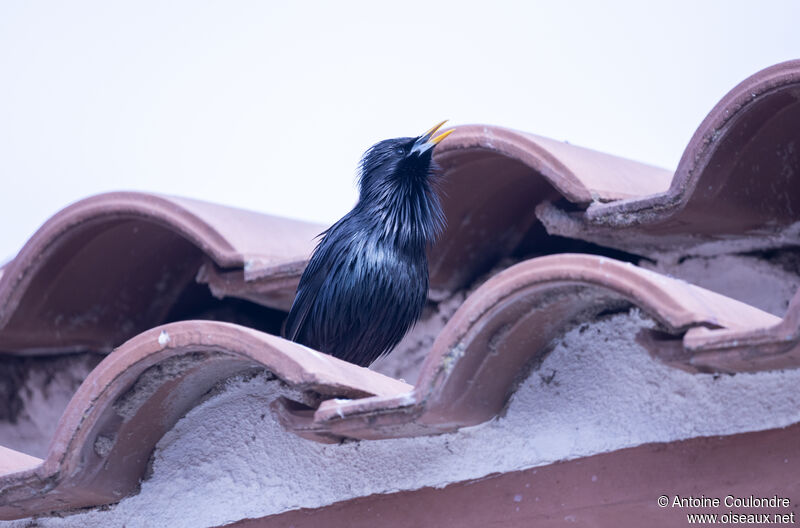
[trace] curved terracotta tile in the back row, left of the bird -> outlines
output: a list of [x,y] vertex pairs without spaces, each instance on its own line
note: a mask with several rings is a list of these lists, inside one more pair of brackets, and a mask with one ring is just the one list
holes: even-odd
[[[45,222],[2,269],[0,349],[110,351],[163,323],[198,269],[242,280],[288,276],[296,285],[321,230],[186,198],[115,192],[81,200]],[[281,284],[276,299],[287,290],[292,284]],[[275,304],[268,293],[262,285],[255,297]]]

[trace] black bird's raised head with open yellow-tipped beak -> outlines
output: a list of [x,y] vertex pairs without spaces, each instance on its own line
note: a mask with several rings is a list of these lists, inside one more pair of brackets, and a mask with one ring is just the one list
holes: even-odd
[[[359,176],[361,197],[377,197],[398,188],[426,186],[434,173],[433,148],[453,130],[436,134],[442,121],[417,137],[386,139],[370,147],[361,159]],[[410,188],[409,187],[409,188]]]

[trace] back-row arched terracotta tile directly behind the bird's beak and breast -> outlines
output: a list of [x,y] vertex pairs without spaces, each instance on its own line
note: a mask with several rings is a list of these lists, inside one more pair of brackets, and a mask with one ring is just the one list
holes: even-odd
[[430,250],[429,266],[431,287],[444,291],[464,286],[524,239],[541,242],[537,204],[645,195],[666,189],[671,177],[643,163],[485,125],[459,126],[435,157],[445,176],[447,228]]

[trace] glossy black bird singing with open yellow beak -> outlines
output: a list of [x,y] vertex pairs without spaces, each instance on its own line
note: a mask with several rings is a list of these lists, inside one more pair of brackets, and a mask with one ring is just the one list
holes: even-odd
[[369,366],[414,325],[428,295],[426,246],[445,223],[432,159],[433,148],[453,132],[436,135],[445,122],[364,153],[358,202],[320,235],[285,337]]

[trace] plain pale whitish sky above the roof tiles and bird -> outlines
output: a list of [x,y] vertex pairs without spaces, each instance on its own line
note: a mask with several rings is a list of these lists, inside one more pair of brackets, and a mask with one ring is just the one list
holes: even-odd
[[322,223],[362,152],[490,123],[674,169],[800,2],[0,2],[0,262],[110,190]]

